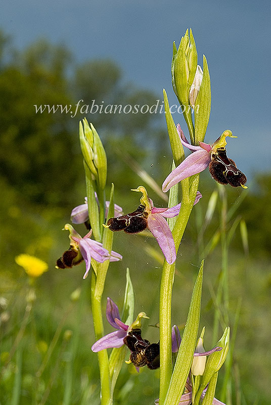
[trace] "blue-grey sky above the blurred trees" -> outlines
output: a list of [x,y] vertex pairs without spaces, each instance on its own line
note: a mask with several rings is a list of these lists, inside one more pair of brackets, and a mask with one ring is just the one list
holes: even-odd
[[[22,49],[38,38],[64,43],[78,61],[112,58],[126,80],[171,91],[172,42],[192,27],[199,63],[208,60],[212,108],[206,141],[225,129],[228,155],[243,171],[269,170],[271,5],[268,1],[11,0],[0,26]],[[175,122],[185,128],[183,117]]]

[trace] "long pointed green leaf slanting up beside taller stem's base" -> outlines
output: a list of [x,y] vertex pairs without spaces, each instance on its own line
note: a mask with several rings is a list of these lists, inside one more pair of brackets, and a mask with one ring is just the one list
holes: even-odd
[[166,399],[164,402],[165,405],[178,404],[190,372],[199,329],[203,263],[204,261],[201,262],[200,270],[193,290],[186,327],[166,394]]

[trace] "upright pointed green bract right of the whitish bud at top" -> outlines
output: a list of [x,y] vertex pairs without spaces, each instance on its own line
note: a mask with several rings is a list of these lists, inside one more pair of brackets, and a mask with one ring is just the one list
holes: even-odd
[[[198,110],[196,110],[198,106]],[[205,55],[203,55],[203,77],[195,108],[195,144],[204,141],[210,111],[211,111],[211,82]]]

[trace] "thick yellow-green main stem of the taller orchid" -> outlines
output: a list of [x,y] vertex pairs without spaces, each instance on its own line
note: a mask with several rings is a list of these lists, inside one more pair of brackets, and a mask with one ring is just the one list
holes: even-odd
[[[180,241],[182,240],[185,228],[187,226],[196,192],[198,190],[199,177],[197,177],[190,188],[190,201],[182,201],[179,215],[172,231],[175,242],[176,252],[178,251]],[[171,297],[174,281],[175,263],[168,264],[164,260],[160,286],[160,308],[159,308],[159,326],[160,326],[160,394],[159,403],[164,403],[167,389],[169,386],[172,363],[171,363]]]

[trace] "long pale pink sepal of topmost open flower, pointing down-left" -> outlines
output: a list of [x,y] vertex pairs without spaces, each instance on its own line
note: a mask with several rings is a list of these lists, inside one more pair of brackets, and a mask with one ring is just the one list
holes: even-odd
[[193,176],[194,174],[202,172],[206,169],[211,161],[210,154],[200,148],[196,152],[191,153],[182,163],[176,167],[165,179],[162,190],[168,191],[172,186]]

